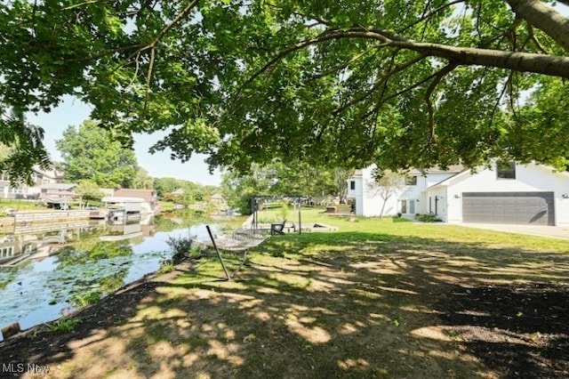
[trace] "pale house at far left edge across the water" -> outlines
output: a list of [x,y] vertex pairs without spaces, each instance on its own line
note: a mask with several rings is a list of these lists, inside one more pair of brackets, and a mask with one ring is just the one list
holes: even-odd
[[50,183],[59,183],[63,174],[55,169],[44,170],[38,165],[32,168],[31,186],[20,184],[16,187],[10,185],[8,173],[0,173],[0,198],[40,198],[41,186]]

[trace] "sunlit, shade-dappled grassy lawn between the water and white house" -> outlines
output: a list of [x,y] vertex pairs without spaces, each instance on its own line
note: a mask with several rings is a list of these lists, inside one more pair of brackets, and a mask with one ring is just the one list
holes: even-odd
[[[317,211],[302,220],[340,230],[271,237],[235,281],[220,280],[213,254],[156,278],[115,327],[68,343],[50,375],[493,378],[532,365],[548,335],[569,332],[527,327],[557,312],[528,288],[567,292],[564,240]],[[566,303],[555,313],[565,321]],[[511,356],[495,352],[512,346]],[[526,372],[566,373],[558,365]]]

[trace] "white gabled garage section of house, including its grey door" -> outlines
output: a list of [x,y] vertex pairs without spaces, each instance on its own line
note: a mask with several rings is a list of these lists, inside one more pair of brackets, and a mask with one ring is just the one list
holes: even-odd
[[423,191],[424,204],[437,199],[437,215],[450,223],[569,225],[569,173],[535,164],[503,167],[466,170],[440,181]]

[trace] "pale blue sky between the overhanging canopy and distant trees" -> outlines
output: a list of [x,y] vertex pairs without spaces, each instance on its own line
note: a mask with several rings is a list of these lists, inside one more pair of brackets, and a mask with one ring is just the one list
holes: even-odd
[[[63,137],[63,131],[68,125],[77,127],[89,118],[91,108],[83,101],[66,96],[60,106],[50,113],[28,114],[30,124],[44,128],[45,148],[49,151],[52,160],[60,161],[60,152],[55,148],[55,141]],[[212,175],[204,163],[205,156],[196,155],[189,162],[182,164],[180,161],[170,159],[170,152],[163,151],[156,154],[148,153],[148,149],[160,138],[160,134],[139,134],[135,138],[134,153],[138,164],[146,169],[150,176],[155,178],[171,177],[194,181],[204,185],[220,185],[220,171],[216,170]]]

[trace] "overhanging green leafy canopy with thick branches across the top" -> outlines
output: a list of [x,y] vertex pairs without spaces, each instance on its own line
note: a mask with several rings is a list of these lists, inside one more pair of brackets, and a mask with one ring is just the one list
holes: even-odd
[[72,94],[118,141],[167,130],[153,149],[181,160],[568,157],[547,99],[567,92],[569,20],[546,1],[12,0],[0,37],[0,102]]

